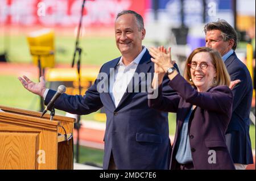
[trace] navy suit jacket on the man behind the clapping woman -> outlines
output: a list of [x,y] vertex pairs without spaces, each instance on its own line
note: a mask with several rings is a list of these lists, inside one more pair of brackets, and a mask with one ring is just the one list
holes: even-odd
[[226,144],[234,163],[253,163],[250,128],[250,108],[253,98],[253,84],[249,70],[241,62],[236,53],[233,53],[226,61],[226,68],[232,81],[241,79],[241,82],[234,87],[232,118],[226,131]]

